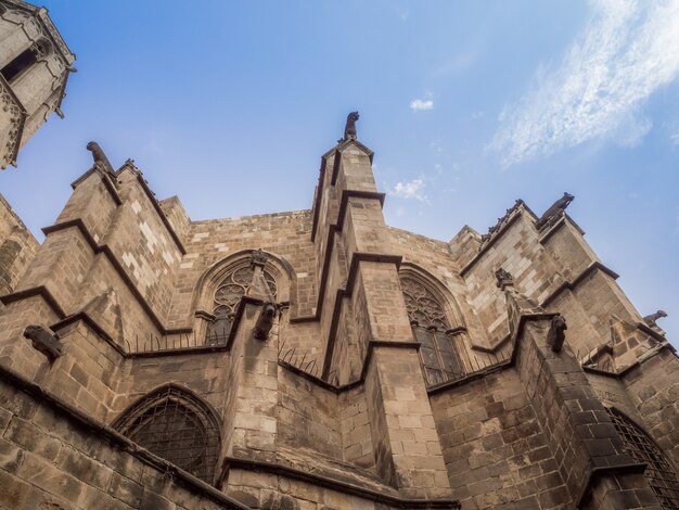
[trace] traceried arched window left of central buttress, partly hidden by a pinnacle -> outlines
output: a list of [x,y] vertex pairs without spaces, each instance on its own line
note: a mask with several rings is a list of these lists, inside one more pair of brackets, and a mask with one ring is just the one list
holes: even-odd
[[[213,320],[207,327],[205,343],[208,345],[225,344],[229,337],[235,307],[253,281],[255,270],[251,266],[241,266],[231,270],[217,286],[213,304]],[[264,270],[264,278],[269,285],[271,295],[276,298],[276,280],[270,272]]]

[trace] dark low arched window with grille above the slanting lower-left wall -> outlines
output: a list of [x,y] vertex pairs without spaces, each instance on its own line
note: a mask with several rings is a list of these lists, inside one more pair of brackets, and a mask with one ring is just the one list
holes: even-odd
[[219,455],[219,421],[200,398],[177,386],[156,390],[113,424],[152,454],[212,484]]

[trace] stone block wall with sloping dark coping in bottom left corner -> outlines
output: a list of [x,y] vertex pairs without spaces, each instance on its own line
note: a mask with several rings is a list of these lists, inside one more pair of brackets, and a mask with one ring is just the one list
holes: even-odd
[[[246,509],[44,394],[0,381],[0,508]],[[168,471],[169,470],[169,471]]]

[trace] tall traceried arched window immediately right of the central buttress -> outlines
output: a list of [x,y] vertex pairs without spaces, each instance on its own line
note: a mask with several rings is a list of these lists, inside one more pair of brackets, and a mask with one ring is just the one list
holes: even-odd
[[462,374],[462,364],[448,334],[450,326],[438,299],[418,280],[401,277],[408,317],[415,340],[420,342],[420,360],[430,385],[456,379]]

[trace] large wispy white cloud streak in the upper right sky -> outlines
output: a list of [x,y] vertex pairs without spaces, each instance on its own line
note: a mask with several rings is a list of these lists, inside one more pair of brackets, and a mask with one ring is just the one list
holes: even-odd
[[633,145],[649,95],[679,73],[679,1],[592,0],[593,14],[555,68],[505,106],[489,148],[504,166],[587,140]]

